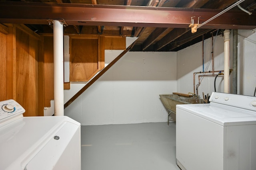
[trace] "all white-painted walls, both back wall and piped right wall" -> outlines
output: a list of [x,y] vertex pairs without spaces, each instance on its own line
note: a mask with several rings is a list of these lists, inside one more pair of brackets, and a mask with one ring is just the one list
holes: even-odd
[[[238,30],[238,34],[238,94],[252,96],[256,86],[256,34],[251,30]],[[211,52],[212,40],[207,39],[204,41],[204,71],[212,70]],[[121,51],[105,51],[106,63],[110,63],[118,53]],[[232,32],[230,60],[232,68]],[[224,40],[217,36],[214,41],[214,70],[223,69]],[[193,72],[200,71],[202,42],[177,53],[128,52],[64,112],[82,125],[165,122],[167,111],[158,95],[193,92]],[[84,86],[72,83],[71,87],[73,85],[78,88],[71,88],[70,94]],[[231,81],[230,86],[232,90]],[[224,91],[222,77],[217,78],[216,90]],[[201,97],[202,92],[211,94],[214,77],[204,77],[198,91]],[[64,94],[65,98],[72,97],[68,97],[67,92]]]

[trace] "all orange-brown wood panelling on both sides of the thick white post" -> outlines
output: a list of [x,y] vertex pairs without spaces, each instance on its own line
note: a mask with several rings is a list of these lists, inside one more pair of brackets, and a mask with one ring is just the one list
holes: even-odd
[[[105,49],[126,49],[125,37],[70,36],[70,80],[88,81],[104,68]],[[42,116],[54,99],[53,36],[22,24],[0,24],[0,101],[14,99]],[[76,73],[74,73],[76,72]]]

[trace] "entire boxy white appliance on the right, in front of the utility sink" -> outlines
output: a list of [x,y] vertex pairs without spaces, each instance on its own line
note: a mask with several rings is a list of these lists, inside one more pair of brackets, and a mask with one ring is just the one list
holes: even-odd
[[256,170],[256,97],[177,105],[176,159],[182,170]]

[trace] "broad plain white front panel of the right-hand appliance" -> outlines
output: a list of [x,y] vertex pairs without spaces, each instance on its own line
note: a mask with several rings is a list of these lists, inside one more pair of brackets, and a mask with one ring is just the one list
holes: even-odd
[[179,108],[176,111],[176,158],[180,164],[187,170],[225,170],[226,127]]

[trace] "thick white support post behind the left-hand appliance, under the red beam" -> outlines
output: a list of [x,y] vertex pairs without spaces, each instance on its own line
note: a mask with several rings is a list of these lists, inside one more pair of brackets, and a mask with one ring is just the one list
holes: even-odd
[[64,115],[63,25],[53,21],[54,115]]

